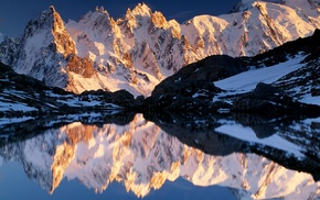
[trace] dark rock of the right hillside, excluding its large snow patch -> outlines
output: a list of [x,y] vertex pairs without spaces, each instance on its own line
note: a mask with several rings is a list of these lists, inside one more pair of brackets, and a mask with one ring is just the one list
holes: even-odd
[[[318,105],[298,101],[305,95],[314,97],[320,93],[319,40],[320,30],[317,30],[310,37],[286,43],[255,57],[207,57],[183,67],[160,82],[146,102],[156,110],[196,114],[212,113],[221,109],[262,114],[319,114]],[[217,88],[214,81],[249,69],[274,66],[296,56],[306,57],[301,62],[303,66],[270,86],[258,85],[249,93],[218,98],[227,91]]]

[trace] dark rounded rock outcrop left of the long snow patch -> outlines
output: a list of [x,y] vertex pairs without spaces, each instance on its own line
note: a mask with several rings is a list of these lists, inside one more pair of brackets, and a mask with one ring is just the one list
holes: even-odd
[[211,56],[183,67],[161,81],[147,102],[156,110],[170,110],[194,114],[216,112],[230,108],[212,99],[222,90],[213,81],[247,70],[242,60],[230,56]]

